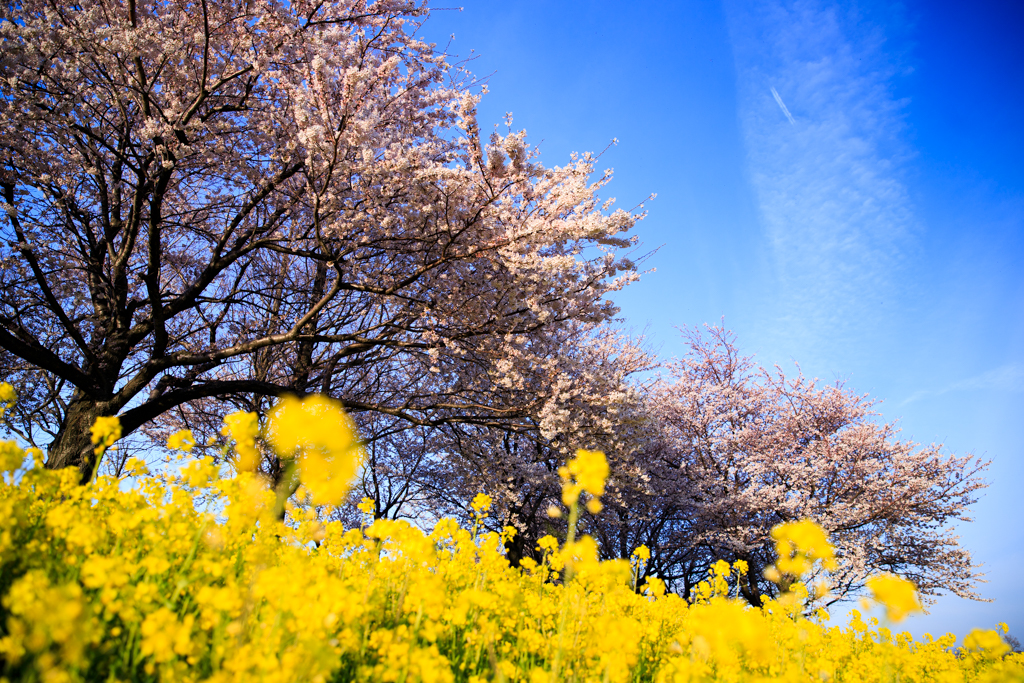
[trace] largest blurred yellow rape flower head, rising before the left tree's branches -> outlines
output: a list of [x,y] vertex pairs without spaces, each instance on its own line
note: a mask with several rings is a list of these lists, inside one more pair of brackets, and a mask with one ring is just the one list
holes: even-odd
[[270,413],[268,436],[283,459],[295,458],[314,503],[344,500],[361,452],[341,403],[318,395],[285,396]]

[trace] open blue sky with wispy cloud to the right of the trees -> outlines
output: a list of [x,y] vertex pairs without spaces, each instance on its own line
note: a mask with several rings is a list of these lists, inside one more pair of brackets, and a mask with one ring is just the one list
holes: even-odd
[[490,74],[483,130],[512,112],[548,165],[618,138],[607,195],[657,193],[660,247],[618,300],[663,355],[724,315],[761,364],[992,459],[962,535],[993,601],[906,625],[1024,639],[1024,3],[893,5],[465,0],[426,31]]

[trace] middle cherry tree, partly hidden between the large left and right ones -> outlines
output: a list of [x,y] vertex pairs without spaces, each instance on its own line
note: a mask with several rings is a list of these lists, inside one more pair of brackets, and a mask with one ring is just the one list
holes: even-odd
[[[467,514],[466,502],[482,492],[490,496],[487,523],[495,530],[512,526],[516,535],[506,544],[509,560],[540,559],[537,541],[565,533],[558,468],[580,447],[603,451],[615,481],[635,472],[635,418],[647,382],[641,378],[656,360],[642,337],[600,329],[589,336],[569,335],[552,350],[550,373],[532,382],[545,397],[527,429],[479,428],[453,425],[439,441],[444,457],[428,486],[440,512]],[[550,509],[560,518],[551,518]]]

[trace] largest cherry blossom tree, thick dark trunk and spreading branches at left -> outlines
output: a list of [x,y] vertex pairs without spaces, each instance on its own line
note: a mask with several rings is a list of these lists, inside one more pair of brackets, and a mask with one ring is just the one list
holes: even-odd
[[0,8],[0,372],[48,466],[91,476],[98,416],[130,434],[214,399],[321,391],[431,429],[539,414],[553,341],[637,276],[640,215],[598,199],[591,155],[545,168],[511,122],[484,144],[427,11]]

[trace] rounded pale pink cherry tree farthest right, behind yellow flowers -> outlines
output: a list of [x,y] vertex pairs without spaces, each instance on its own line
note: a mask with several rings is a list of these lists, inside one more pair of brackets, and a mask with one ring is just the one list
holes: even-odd
[[[774,561],[771,528],[811,518],[838,549],[829,600],[879,571],[925,596],[978,598],[978,567],[953,524],[970,521],[988,463],[901,440],[877,401],[759,368],[722,328],[686,338],[689,354],[648,396],[660,428],[644,446],[646,476],[620,506],[628,523],[604,525],[605,552],[648,545],[651,570],[684,594],[716,560],[744,560],[740,591],[757,605],[775,591],[762,578]],[[620,536],[628,542],[609,543]]]

